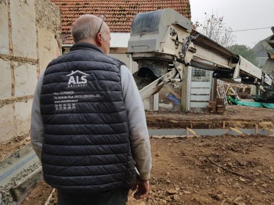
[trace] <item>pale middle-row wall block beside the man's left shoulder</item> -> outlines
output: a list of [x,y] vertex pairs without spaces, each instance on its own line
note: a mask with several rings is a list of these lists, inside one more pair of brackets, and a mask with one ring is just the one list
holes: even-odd
[[37,66],[28,63],[19,63],[14,69],[14,95],[24,96],[33,94],[37,84]]

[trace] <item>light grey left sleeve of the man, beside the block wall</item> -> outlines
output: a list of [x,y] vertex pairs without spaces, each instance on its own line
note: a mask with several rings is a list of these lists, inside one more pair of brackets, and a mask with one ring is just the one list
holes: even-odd
[[42,143],[44,140],[44,124],[40,110],[40,95],[43,84],[44,73],[39,77],[35,93],[33,96],[32,110],[31,110],[31,124],[30,124],[30,138],[32,148],[41,160]]

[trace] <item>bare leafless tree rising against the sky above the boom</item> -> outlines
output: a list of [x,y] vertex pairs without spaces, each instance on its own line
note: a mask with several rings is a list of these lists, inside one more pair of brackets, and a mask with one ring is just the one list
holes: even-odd
[[235,36],[232,35],[232,28],[225,26],[224,17],[218,17],[214,13],[205,15],[204,23],[195,22],[196,29],[223,47],[231,46],[235,42]]

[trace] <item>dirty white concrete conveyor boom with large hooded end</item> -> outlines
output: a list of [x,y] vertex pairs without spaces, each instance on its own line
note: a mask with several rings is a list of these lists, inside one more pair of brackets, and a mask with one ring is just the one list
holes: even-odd
[[192,29],[189,19],[168,8],[137,14],[131,25],[128,53],[138,63],[134,74],[142,99],[159,92],[166,83],[184,81],[184,66],[213,71],[213,77],[252,84],[265,92],[273,86],[267,75],[242,56],[236,55]]

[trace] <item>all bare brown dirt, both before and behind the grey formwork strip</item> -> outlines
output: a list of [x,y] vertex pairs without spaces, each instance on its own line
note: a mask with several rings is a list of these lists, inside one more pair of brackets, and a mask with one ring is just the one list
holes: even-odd
[[[224,115],[147,112],[149,129],[274,127],[274,110],[229,106]],[[192,124],[192,125],[191,125]],[[153,168],[148,198],[127,205],[274,205],[274,138],[218,136],[151,138]],[[30,143],[29,133],[0,145],[0,160]],[[43,205],[52,187],[42,182],[22,205]],[[50,201],[56,203],[56,193]]]

